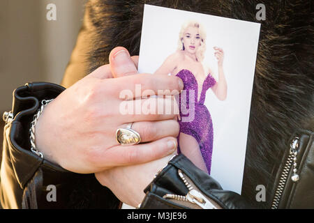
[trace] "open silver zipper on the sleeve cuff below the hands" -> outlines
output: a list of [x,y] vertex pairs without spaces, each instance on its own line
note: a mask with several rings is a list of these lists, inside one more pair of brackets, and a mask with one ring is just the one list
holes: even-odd
[[188,187],[188,194],[186,196],[177,195],[177,194],[165,194],[163,196],[164,199],[174,199],[177,201],[186,201],[190,203],[195,203],[197,206],[200,206],[202,209],[217,209],[216,206],[214,206],[209,199],[207,199],[200,191],[195,190],[190,183],[188,183],[188,180],[184,177],[184,174],[182,174],[182,171],[179,169],[178,174],[181,178],[181,180],[184,181],[184,184],[186,187]]

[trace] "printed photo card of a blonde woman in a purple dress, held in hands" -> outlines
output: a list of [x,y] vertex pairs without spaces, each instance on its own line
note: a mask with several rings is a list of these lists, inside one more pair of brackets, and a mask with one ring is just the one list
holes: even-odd
[[253,22],[144,7],[139,72],[184,82],[178,153],[239,193],[259,32]]

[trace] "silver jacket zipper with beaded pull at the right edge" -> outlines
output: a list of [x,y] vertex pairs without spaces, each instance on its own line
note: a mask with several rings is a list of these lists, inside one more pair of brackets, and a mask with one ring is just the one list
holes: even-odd
[[271,203],[271,209],[277,209],[278,205],[281,201],[281,196],[283,195],[283,190],[285,188],[285,183],[287,182],[287,177],[289,175],[289,171],[293,166],[293,174],[291,180],[293,182],[299,181],[299,175],[297,174],[297,155],[299,148],[299,137],[294,137],[290,144],[290,152],[287,157],[287,161],[285,162],[285,167],[283,167],[283,171],[281,172],[281,178],[279,179],[278,186],[276,188],[275,196],[273,202]]

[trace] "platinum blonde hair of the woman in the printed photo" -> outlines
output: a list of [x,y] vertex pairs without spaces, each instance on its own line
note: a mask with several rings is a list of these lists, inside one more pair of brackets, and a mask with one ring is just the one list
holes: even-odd
[[184,24],[182,24],[181,30],[179,32],[178,50],[184,50],[184,44],[182,42],[184,38],[184,31],[186,31],[186,29],[190,26],[196,27],[199,31],[201,44],[200,44],[200,47],[198,47],[197,49],[196,59],[197,61],[202,62],[204,59],[205,51],[206,51],[206,31],[204,30],[204,27],[202,26],[202,24],[200,24],[200,22],[189,20],[187,22],[184,22]]

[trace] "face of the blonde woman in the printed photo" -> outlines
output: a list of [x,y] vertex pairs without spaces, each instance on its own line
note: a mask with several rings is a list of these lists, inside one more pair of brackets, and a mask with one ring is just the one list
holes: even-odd
[[187,52],[195,54],[197,48],[200,47],[201,38],[197,27],[188,26],[183,36],[184,48]]

